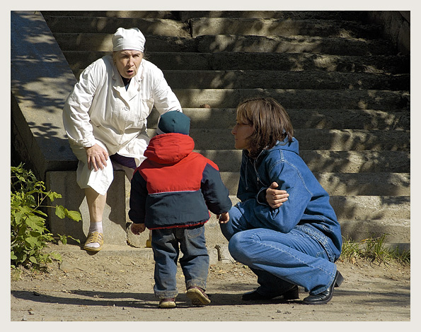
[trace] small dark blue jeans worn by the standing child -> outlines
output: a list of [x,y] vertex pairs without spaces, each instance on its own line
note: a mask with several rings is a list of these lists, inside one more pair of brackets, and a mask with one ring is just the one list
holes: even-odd
[[152,249],[155,260],[154,292],[159,299],[177,297],[176,282],[179,252],[185,287],[197,286],[206,290],[209,255],[204,238],[204,225],[185,228],[152,230]]

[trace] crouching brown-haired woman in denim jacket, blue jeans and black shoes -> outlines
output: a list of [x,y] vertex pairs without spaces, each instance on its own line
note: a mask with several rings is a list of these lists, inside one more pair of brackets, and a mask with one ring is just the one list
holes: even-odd
[[269,97],[238,105],[232,129],[243,150],[240,203],[221,231],[234,259],[258,276],[257,290],[243,300],[299,298],[324,304],[342,283],[335,261],[342,237],[329,195],[299,156],[299,143],[284,107]]

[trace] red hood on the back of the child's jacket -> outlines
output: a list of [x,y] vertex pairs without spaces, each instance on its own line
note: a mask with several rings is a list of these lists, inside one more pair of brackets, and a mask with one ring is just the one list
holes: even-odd
[[173,164],[192,153],[195,141],[188,135],[170,133],[154,136],[144,156],[159,164]]

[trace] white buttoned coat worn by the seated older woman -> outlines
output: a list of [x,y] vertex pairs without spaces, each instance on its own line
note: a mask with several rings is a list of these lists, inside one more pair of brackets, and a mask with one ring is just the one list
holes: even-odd
[[110,55],[93,62],[81,73],[64,103],[63,123],[79,159],[77,182],[82,189],[91,186],[105,194],[113,181],[110,160],[107,165],[111,168],[88,170],[86,147],[98,143],[109,155],[132,157],[140,165],[149,143],[146,118],[153,106],[161,114],[175,109],[183,112],[162,71],[145,59],[127,90]]

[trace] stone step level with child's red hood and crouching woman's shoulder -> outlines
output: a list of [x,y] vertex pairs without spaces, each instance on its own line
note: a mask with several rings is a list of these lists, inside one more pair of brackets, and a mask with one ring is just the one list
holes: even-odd
[[[238,172],[241,165],[242,150],[195,151],[215,162],[221,172]],[[409,151],[300,150],[299,154],[313,172],[410,172]]]

